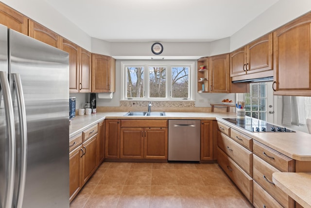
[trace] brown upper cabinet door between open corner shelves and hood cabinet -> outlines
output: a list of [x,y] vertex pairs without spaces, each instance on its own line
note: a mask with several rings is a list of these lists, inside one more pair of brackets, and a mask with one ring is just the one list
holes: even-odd
[[211,93],[229,93],[229,71],[229,54],[209,58]]

